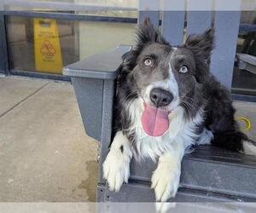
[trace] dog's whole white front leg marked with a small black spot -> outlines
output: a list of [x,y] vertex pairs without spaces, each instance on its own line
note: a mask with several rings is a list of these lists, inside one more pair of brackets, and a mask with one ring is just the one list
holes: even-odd
[[122,131],[117,132],[103,163],[103,176],[108,181],[111,191],[118,192],[123,182],[128,182],[131,157],[132,153],[127,137]]

